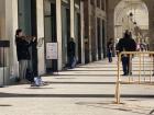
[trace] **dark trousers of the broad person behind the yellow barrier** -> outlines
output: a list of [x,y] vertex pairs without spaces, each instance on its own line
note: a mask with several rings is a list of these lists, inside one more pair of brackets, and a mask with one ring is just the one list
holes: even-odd
[[122,67],[123,67],[123,74],[127,76],[129,74],[129,57],[122,57]]

